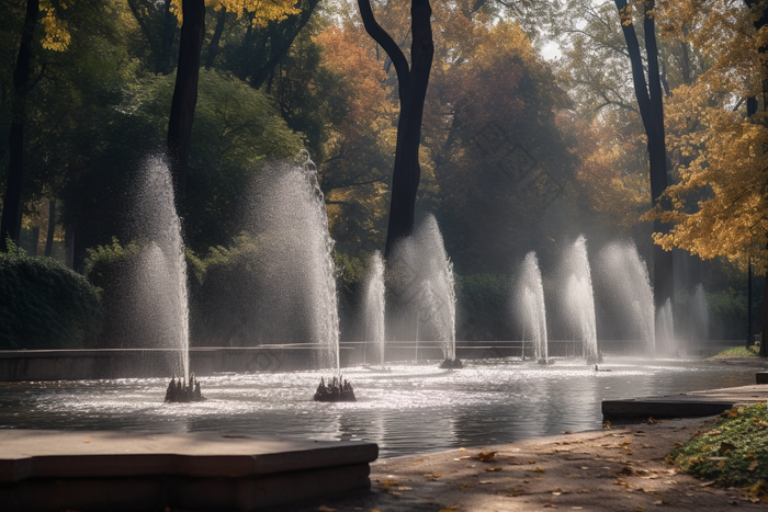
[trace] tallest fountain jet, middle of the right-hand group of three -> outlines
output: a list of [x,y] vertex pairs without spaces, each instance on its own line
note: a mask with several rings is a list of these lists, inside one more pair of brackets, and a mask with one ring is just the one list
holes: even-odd
[[565,283],[564,309],[571,331],[581,342],[581,352],[588,364],[600,360],[597,348],[597,319],[595,295],[587,257],[587,240],[580,235],[566,251],[563,264]]

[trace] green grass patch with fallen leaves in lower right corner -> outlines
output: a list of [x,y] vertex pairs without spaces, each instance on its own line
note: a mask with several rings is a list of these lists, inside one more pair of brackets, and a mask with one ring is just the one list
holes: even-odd
[[[712,425],[712,423],[707,423]],[[768,409],[765,403],[723,412],[667,455],[686,473],[724,487],[748,488],[768,502]]]

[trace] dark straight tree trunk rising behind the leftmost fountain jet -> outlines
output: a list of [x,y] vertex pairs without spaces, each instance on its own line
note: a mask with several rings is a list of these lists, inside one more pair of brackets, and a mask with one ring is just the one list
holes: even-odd
[[200,53],[205,34],[204,0],[182,0],[181,39],[176,88],[168,120],[168,159],[176,189],[177,204],[184,196],[187,161],[192,138],[192,121],[197,103],[197,79],[200,77]]

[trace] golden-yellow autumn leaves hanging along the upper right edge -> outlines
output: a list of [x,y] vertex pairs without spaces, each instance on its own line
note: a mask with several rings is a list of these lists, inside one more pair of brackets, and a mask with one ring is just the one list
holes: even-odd
[[754,13],[744,2],[670,1],[660,27],[665,37],[690,43],[709,67],[690,86],[673,90],[666,102],[667,147],[678,162],[678,182],[665,195],[671,209],[648,212],[645,220],[670,223],[655,234],[665,249],[686,249],[701,258],[747,257],[768,264],[768,128],[765,114],[746,116],[744,100],[760,95]]

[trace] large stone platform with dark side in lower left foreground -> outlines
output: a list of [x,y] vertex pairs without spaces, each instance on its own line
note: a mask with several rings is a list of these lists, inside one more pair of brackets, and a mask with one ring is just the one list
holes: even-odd
[[257,510],[368,489],[377,455],[363,442],[0,430],[0,510]]

